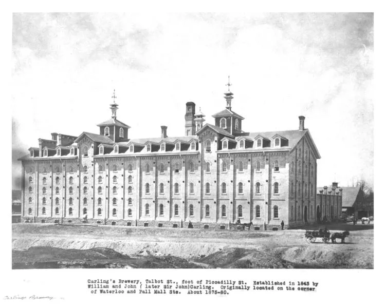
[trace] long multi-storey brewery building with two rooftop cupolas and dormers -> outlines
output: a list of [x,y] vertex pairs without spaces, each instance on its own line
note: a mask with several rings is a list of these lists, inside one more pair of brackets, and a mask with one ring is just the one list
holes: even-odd
[[111,119],[99,133],[51,133],[22,157],[22,220],[128,226],[270,229],[317,221],[317,147],[299,129],[245,132],[231,107],[204,124],[186,104],[185,136],[132,139]]

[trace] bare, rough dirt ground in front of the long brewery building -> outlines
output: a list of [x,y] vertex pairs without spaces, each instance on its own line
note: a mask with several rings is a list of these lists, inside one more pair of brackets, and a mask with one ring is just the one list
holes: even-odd
[[13,224],[12,267],[373,268],[373,226],[328,228],[349,229],[350,237],[345,244],[309,244],[302,229]]

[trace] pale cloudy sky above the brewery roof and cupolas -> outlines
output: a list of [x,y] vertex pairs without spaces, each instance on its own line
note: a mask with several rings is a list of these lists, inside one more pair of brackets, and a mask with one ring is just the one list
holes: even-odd
[[39,138],[98,133],[114,89],[129,138],[183,136],[186,102],[213,124],[228,75],[244,131],[304,115],[317,185],[373,187],[373,34],[372,13],[14,13],[12,188]]

